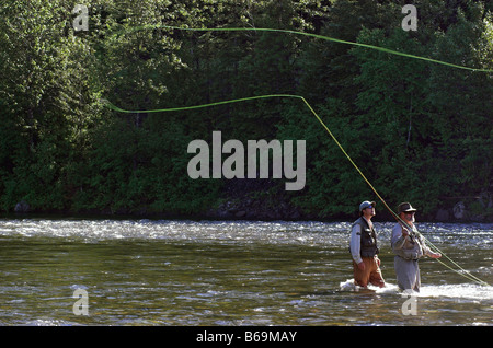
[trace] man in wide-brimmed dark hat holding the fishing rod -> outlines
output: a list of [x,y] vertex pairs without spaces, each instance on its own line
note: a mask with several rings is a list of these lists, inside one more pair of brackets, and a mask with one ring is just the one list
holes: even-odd
[[442,255],[432,252],[417,232],[414,225],[416,209],[409,202],[402,202],[398,207],[398,213],[402,221],[395,223],[391,237],[392,251],[395,254],[393,265],[398,286],[401,290],[411,289],[420,292],[421,277],[417,260],[424,255],[433,258]]

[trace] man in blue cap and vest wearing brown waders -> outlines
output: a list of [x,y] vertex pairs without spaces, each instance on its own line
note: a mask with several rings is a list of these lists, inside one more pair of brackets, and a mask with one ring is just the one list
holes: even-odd
[[383,288],[377,233],[371,222],[375,217],[375,201],[365,200],[359,205],[359,219],[351,230],[349,251],[353,256],[354,282],[366,288],[368,283]]

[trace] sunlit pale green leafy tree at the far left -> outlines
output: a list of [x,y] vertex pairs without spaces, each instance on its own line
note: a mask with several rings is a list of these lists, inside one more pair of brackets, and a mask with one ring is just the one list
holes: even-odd
[[70,11],[64,1],[0,5],[2,209],[21,199],[35,209],[65,206],[65,164],[84,141],[94,101],[89,46],[68,30]]

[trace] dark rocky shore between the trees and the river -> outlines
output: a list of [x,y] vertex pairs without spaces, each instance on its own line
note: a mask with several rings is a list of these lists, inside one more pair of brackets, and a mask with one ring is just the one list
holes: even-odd
[[[225,186],[218,202],[205,211],[173,216],[167,212],[149,213],[146,208],[139,211],[82,211],[76,214],[89,216],[125,216],[174,219],[214,219],[214,220],[352,220],[355,216],[323,216],[320,212],[306,212],[293,204],[293,193],[283,190],[279,185],[270,179],[242,181],[233,179]],[[493,197],[490,194],[449,198],[447,207],[437,208],[433,213],[420,213],[420,221],[436,222],[493,222]],[[25,200],[14,207],[16,214],[55,213],[73,214],[71,211],[39,211],[32,209]],[[355,211],[356,214],[356,211]],[[393,217],[386,209],[378,210],[378,219],[392,221]]]

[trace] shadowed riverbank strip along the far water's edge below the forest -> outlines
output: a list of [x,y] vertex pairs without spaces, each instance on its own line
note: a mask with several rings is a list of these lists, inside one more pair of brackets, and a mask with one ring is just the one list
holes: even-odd
[[[32,208],[27,201],[20,201],[12,211],[0,213],[0,217],[74,217],[90,219],[171,219],[171,220],[246,220],[246,221],[354,221],[357,218],[357,202],[351,213],[326,212],[336,211],[334,206],[320,207],[319,210],[302,208],[299,194],[287,193],[279,189],[278,185],[268,181],[231,181],[225,185],[221,194],[203,209],[193,212],[171,212],[153,210],[149,206],[141,205],[134,208],[102,208],[102,209],[39,209]],[[469,197],[468,199],[446,200],[446,204],[431,212],[424,212],[420,202],[414,204],[419,209],[419,221],[422,222],[493,222],[493,208],[491,199]],[[307,199],[305,197],[305,199]],[[394,221],[394,217],[377,201],[377,216],[375,221]],[[393,204],[387,201],[392,208]],[[342,209],[344,210],[344,209]],[[347,209],[345,210],[347,211]],[[397,211],[397,208],[394,209]]]

